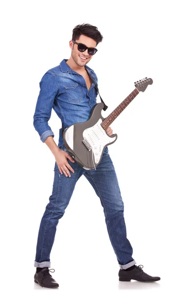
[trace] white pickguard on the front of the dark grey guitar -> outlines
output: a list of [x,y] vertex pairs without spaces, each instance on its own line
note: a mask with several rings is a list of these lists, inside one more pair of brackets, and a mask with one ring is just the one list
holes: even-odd
[[109,137],[106,131],[101,127],[102,119],[100,118],[94,126],[86,128],[83,131],[83,138],[86,139],[92,147],[90,151],[93,151],[95,163],[98,164],[102,150],[104,147],[114,142],[117,138]]

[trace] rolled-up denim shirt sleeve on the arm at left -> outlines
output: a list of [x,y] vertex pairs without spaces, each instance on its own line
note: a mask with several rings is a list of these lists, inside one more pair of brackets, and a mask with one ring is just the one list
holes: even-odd
[[48,125],[48,121],[51,117],[54,100],[58,94],[59,88],[55,76],[49,72],[43,75],[39,85],[40,92],[35,114],[33,116],[33,125],[39,133],[40,140],[44,143],[48,136],[54,137],[54,133]]

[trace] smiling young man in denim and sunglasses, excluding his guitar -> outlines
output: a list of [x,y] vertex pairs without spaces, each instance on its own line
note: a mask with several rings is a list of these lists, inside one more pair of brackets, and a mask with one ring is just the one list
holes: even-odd
[[[34,127],[39,133],[40,140],[50,148],[56,160],[53,191],[40,222],[34,263],[37,268],[35,282],[46,288],[59,287],[50,274],[50,252],[59,219],[63,216],[81,175],[84,175],[93,186],[103,207],[108,234],[120,267],[119,280],[160,280],[159,277],[152,277],[143,272],[142,266],[136,266],[136,261],[132,257],[133,249],[126,237],[123,201],[108,148],[105,148],[96,169],[86,170],[68,153],[61,129],[57,146],[53,139],[54,133],[48,125],[52,108],[59,116],[63,129],[89,119],[92,107],[97,104],[95,84],[98,84],[98,79],[95,72],[86,64],[97,52],[96,46],[102,39],[96,26],[77,25],[73,29],[72,41],[69,42],[71,57],[48,70],[40,81]],[[106,132],[109,135],[113,134],[111,127],[108,127]]]

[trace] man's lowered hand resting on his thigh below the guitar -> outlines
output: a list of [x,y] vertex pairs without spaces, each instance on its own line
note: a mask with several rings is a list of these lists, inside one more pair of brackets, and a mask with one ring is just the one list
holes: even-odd
[[64,173],[64,175],[66,177],[68,177],[68,176],[71,177],[71,174],[70,174],[69,170],[71,170],[73,173],[75,171],[70,166],[70,164],[68,163],[67,159],[69,159],[72,163],[75,163],[73,158],[71,158],[71,156],[66,151],[59,149],[59,151],[55,154],[55,159],[56,159],[56,163],[57,163],[58,168],[59,168],[59,172],[61,174]]

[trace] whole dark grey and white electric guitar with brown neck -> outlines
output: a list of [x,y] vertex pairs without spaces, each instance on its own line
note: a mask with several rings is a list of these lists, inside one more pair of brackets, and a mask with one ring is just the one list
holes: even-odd
[[148,84],[153,84],[153,80],[147,77],[135,82],[136,89],[107,118],[101,115],[104,104],[98,103],[92,108],[89,120],[73,124],[63,131],[64,145],[81,167],[96,169],[105,147],[117,140],[117,134],[108,135],[106,129],[140,91],[145,91]]

